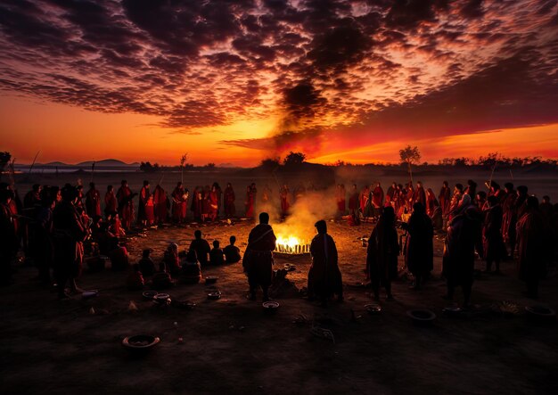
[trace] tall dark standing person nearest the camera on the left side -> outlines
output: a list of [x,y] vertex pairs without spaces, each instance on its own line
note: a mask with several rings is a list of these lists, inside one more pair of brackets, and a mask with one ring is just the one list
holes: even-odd
[[62,202],[53,210],[54,276],[60,299],[69,297],[65,292],[69,281],[71,292],[81,292],[76,278],[81,271],[87,230],[74,206],[77,201],[76,188],[66,185],[62,188]]

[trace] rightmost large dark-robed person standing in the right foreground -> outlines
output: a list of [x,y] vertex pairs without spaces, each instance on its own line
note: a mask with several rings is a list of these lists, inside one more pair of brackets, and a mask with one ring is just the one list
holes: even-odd
[[539,280],[546,275],[546,238],[545,219],[538,210],[538,199],[529,196],[523,215],[517,221],[517,251],[519,276],[527,284],[527,296],[533,299],[538,297]]

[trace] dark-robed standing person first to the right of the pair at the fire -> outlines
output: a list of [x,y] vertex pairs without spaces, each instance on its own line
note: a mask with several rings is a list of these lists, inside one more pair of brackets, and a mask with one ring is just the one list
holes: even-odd
[[366,271],[370,277],[375,300],[380,299],[380,285],[385,288],[387,299],[393,299],[391,280],[398,276],[398,255],[395,210],[389,206],[383,209],[378,224],[374,226],[366,251]]

